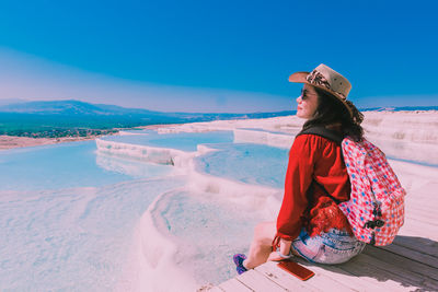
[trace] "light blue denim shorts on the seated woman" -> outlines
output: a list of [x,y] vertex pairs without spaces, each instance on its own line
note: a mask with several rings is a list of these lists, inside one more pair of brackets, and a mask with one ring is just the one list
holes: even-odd
[[304,229],[292,242],[295,250],[311,262],[342,264],[360,254],[366,243],[348,232],[331,229],[327,233],[310,237]]

